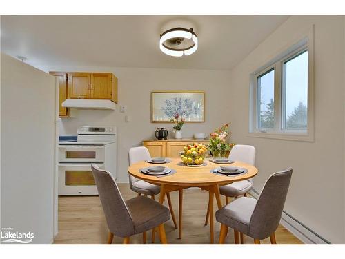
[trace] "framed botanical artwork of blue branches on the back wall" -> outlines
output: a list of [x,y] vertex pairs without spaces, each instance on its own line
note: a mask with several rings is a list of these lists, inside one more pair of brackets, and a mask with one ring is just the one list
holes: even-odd
[[177,114],[185,122],[205,122],[205,92],[151,92],[151,122],[170,122]]

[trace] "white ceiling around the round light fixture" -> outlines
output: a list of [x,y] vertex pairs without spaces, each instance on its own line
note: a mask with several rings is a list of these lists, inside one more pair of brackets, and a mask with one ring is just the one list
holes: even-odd
[[[223,70],[238,64],[286,19],[277,15],[2,16],[1,52],[27,57],[33,66]],[[199,39],[193,55],[170,57],[159,50],[159,33],[174,21],[193,24]]]

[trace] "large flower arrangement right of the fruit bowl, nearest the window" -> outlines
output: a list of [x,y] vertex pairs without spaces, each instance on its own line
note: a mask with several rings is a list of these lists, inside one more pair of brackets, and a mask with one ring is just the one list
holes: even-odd
[[213,133],[210,133],[210,144],[208,144],[208,149],[212,151],[213,157],[228,157],[231,148],[235,146],[233,143],[226,142],[226,138],[230,135],[228,131],[228,126],[230,122],[221,126]]

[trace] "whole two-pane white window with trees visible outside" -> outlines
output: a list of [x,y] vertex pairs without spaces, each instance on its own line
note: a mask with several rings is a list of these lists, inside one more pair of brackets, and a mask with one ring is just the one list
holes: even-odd
[[304,39],[253,73],[250,136],[313,140],[313,66]]

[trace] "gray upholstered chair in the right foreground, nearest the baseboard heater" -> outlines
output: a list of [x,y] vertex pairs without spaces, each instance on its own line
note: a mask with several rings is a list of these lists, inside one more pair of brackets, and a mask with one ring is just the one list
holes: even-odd
[[271,175],[257,200],[241,197],[219,209],[216,212],[221,223],[219,244],[224,243],[228,227],[234,229],[235,244],[239,244],[239,232],[254,238],[255,244],[268,237],[276,244],[275,230],[282,217],[292,173],[289,168]]

